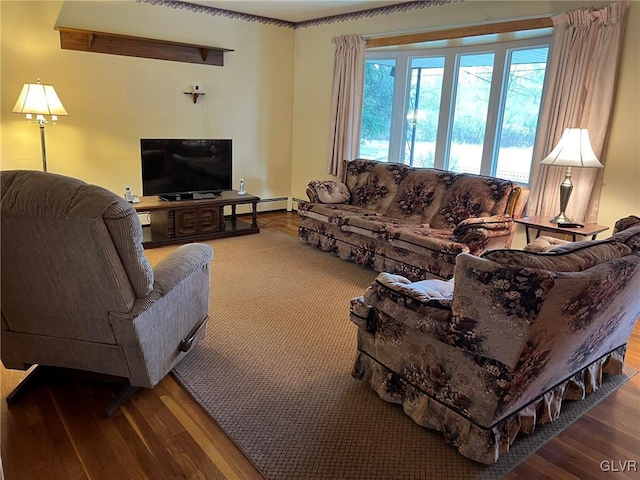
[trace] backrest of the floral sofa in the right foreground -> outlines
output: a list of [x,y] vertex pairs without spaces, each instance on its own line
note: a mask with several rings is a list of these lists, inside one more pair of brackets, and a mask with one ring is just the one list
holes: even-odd
[[[452,310],[466,326],[460,346],[513,373],[502,413],[628,341],[640,316],[640,253],[617,242],[594,242],[592,248],[596,255],[581,248],[575,252],[580,258],[569,262],[588,259],[592,266],[573,271],[540,268],[540,257],[552,253],[529,253],[532,262],[515,250],[512,259],[502,254],[499,262],[458,255]],[[572,253],[562,255],[566,263]]]

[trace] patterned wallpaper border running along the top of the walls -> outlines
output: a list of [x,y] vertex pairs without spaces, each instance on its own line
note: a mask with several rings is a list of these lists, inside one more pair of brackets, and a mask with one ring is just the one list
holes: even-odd
[[[197,0],[196,0],[197,1]],[[165,7],[171,7],[179,10],[189,10],[196,13],[205,13],[216,17],[226,17],[244,20],[246,22],[258,22],[265,25],[274,25],[276,27],[285,28],[307,28],[317,27],[319,25],[325,25],[329,23],[346,22],[349,20],[359,20],[366,17],[376,17],[378,15],[389,15],[397,12],[407,12],[417,8],[426,8],[432,5],[445,5],[451,2],[464,1],[464,0],[428,0],[421,2],[404,2],[397,5],[388,5],[386,7],[371,8],[368,10],[361,10],[352,13],[343,13],[340,15],[332,15],[330,17],[315,18],[313,20],[306,20],[304,22],[288,22],[286,20],[278,20],[277,18],[261,17],[259,15],[251,15],[248,13],[235,12],[233,10],[226,10],[224,8],[208,7],[205,5],[198,5],[196,3],[183,2],[180,0],[136,0],[139,3],[148,3],[150,5],[162,5]]]

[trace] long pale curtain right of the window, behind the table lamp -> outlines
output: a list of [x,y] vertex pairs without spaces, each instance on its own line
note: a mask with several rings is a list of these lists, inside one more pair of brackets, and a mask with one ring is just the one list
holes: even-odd
[[[566,168],[540,165],[540,161],[558,143],[565,128],[589,129],[593,151],[606,168],[604,157],[629,5],[623,1],[553,17],[549,82],[540,115],[528,215],[552,217],[559,212],[559,185]],[[603,170],[573,169],[569,217],[597,221]]]

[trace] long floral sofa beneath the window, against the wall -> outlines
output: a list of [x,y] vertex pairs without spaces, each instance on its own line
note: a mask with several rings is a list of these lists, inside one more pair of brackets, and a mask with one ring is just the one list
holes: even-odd
[[456,256],[511,245],[529,190],[508,180],[399,163],[346,162],[343,182],[309,183],[298,237],[412,280],[451,278]]

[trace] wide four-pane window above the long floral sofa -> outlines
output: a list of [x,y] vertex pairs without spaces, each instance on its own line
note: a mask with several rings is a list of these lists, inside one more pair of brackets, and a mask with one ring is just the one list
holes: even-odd
[[548,37],[369,52],[360,156],[528,184],[548,53]]

